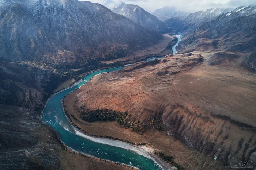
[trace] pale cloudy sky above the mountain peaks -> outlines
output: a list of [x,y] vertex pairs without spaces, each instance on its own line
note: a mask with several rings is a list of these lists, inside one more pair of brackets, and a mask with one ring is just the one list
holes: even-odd
[[[103,4],[107,0],[89,0]],[[179,11],[196,12],[209,8],[236,8],[238,6],[256,5],[256,0],[113,0],[126,4],[139,5],[146,11],[153,13],[165,6],[175,6]]]

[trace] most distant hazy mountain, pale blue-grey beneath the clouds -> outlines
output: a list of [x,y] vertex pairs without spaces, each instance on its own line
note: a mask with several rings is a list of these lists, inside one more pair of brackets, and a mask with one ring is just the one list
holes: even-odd
[[156,16],[161,21],[165,21],[172,17],[185,16],[187,14],[188,13],[184,11],[177,11],[175,7],[163,7],[152,13],[152,15]]

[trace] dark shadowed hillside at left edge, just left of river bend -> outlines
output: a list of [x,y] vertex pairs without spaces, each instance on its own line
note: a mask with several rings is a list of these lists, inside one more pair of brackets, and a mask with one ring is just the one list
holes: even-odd
[[40,110],[65,79],[38,67],[0,61],[0,104]]

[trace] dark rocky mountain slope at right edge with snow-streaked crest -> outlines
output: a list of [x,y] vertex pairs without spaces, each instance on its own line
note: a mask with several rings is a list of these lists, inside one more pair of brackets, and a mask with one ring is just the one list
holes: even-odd
[[256,6],[238,7],[231,12],[184,31],[178,49],[196,48],[199,38],[215,40],[219,51],[252,52],[256,46]]

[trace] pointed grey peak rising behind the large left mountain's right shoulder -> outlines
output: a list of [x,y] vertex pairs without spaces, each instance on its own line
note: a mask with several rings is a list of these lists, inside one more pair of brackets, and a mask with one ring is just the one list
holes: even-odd
[[151,15],[138,5],[119,5],[112,9],[114,13],[123,15],[136,24],[143,27],[149,27],[158,32],[168,32],[169,29],[157,17]]

